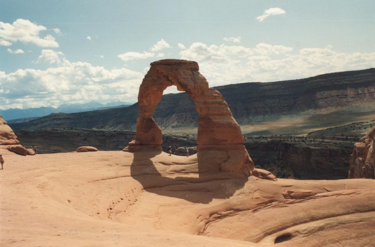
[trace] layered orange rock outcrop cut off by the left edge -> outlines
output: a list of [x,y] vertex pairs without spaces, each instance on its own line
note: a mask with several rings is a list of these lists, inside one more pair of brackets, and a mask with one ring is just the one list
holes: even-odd
[[26,155],[27,150],[20,145],[17,136],[14,134],[12,128],[7,125],[6,121],[0,115],[0,149],[7,149],[16,154]]

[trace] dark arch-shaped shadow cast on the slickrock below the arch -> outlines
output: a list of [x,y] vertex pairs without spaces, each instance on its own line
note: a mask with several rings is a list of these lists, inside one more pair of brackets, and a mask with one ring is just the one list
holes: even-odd
[[[130,174],[132,178],[141,183],[145,191],[161,196],[175,197],[193,203],[209,203],[213,199],[228,199],[237,190],[243,188],[249,180],[242,171],[222,172],[207,160],[196,155],[198,166],[195,164],[158,165],[160,172],[151,160],[159,151],[134,152]],[[168,156],[171,162],[175,156]],[[195,158],[195,157],[192,157]],[[186,166],[186,169],[184,168]],[[188,169],[197,167],[193,171]],[[177,170],[178,169],[178,170]],[[175,170],[175,171],[173,171]],[[194,176],[195,175],[195,176]],[[198,175],[198,177],[196,177]]]

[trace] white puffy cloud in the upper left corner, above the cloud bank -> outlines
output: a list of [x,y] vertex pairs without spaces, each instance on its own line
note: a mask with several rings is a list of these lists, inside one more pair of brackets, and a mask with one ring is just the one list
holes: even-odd
[[39,37],[39,32],[46,29],[46,27],[31,23],[29,20],[18,19],[12,24],[0,21],[0,38],[8,42],[33,43],[40,47],[58,47],[53,36]]

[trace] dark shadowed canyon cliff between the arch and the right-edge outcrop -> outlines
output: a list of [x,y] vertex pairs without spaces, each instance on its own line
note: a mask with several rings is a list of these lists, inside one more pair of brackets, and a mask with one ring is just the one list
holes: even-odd
[[278,178],[345,179],[353,142],[253,139],[244,143],[254,164]]

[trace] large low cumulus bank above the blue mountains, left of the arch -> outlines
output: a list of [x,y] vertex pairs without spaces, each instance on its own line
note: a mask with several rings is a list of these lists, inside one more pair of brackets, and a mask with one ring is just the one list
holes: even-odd
[[[55,53],[57,57],[63,56]],[[53,60],[54,54],[48,51],[43,57]],[[9,74],[0,71],[0,105],[30,108],[92,100],[135,102],[143,77],[143,73],[126,68],[108,70],[66,59],[61,65],[45,70],[18,69]]]

